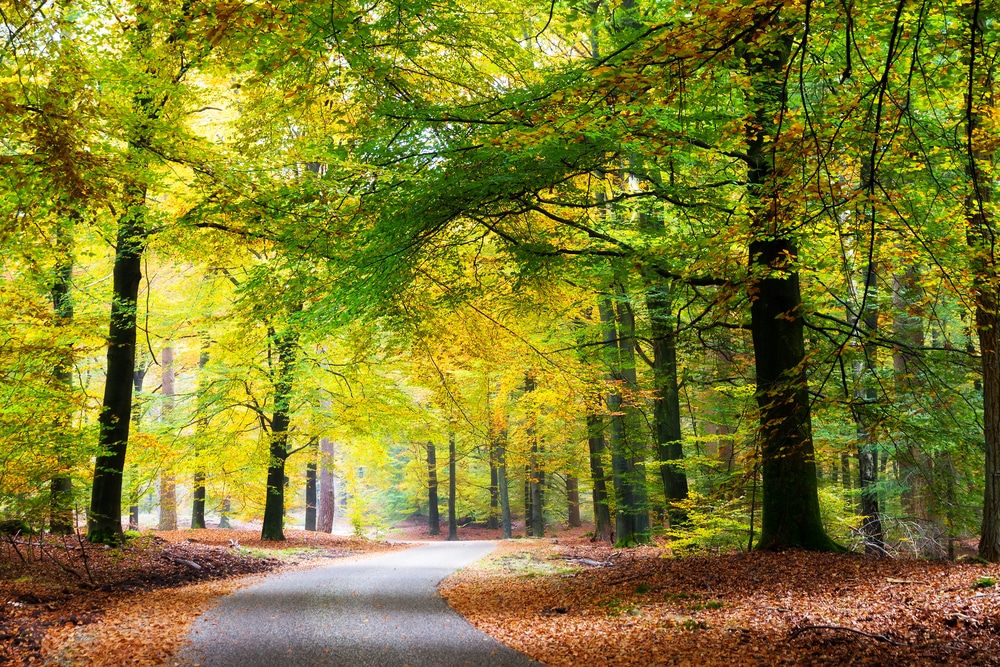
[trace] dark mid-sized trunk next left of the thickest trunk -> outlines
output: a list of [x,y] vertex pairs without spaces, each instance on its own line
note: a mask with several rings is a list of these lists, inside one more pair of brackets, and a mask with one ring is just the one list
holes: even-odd
[[660,476],[667,501],[671,525],[684,521],[684,512],[671,503],[687,499],[687,475],[679,467],[684,458],[681,447],[681,404],[677,382],[677,345],[671,321],[670,293],[665,286],[654,285],[646,292],[650,332],[653,338],[653,419],[656,428],[656,450]]

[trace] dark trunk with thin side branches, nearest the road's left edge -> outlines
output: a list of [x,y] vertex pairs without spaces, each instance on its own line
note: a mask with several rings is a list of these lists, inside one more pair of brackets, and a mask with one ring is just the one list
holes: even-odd
[[267,466],[264,525],[260,532],[262,540],[285,539],[285,460],[288,458],[288,424],[298,345],[298,333],[294,324],[289,323],[287,327],[281,334],[271,331],[278,359],[277,367],[271,370],[274,377],[274,412],[271,416],[271,456]]

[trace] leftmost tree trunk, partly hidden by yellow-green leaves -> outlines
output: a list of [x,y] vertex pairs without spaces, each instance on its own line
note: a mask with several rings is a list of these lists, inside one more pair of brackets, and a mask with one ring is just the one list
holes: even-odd
[[[70,215],[73,222],[79,221],[79,215]],[[73,249],[68,232],[60,228],[56,232],[55,277],[52,281],[52,308],[55,314],[57,328],[67,326],[73,321],[73,300],[70,298],[70,286],[73,279]],[[56,385],[71,391],[73,388],[73,345],[64,345],[63,358],[53,369]],[[57,472],[49,484],[49,532],[53,535],[68,535],[76,528],[73,519],[73,478],[70,474],[70,458],[66,452],[68,415],[60,417],[55,424],[56,430],[56,466]]]

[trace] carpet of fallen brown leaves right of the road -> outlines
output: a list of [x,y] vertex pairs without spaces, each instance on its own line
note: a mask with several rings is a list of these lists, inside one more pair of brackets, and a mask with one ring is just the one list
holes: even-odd
[[1000,665],[1000,596],[975,588],[995,565],[664,555],[507,542],[442,594],[546,665]]

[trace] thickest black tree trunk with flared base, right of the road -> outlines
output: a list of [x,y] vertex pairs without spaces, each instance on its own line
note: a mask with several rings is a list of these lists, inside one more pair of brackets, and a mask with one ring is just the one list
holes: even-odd
[[798,249],[783,219],[774,173],[776,119],[786,101],[785,66],[792,39],[776,15],[759,14],[763,45],[745,48],[749,74],[746,125],[751,213],[750,329],[760,414],[762,517],[759,549],[839,550],[819,511],[809,392],[806,383]]

